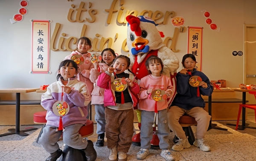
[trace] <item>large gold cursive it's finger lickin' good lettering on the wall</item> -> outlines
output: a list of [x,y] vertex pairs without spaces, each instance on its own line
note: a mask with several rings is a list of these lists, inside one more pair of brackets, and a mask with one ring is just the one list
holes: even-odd
[[[97,10],[90,9],[92,6],[92,3],[89,2],[87,4],[89,7],[87,15],[89,15],[89,17],[82,17],[82,15],[84,15],[83,12],[87,11],[87,9],[85,9],[86,3],[80,2],[78,8],[76,8],[76,6],[74,4],[71,5],[71,9],[69,9],[69,11],[68,11],[67,20],[70,21],[71,23],[74,23],[74,22],[84,23],[84,21],[87,21],[88,23],[94,23],[96,21]],[[127,23],[125,17],[127,17],[128,15],[138,16],[138,11],[136,11],[136,10],[130,11],[128,9],[125,9],[123,4],[124,4],[124,0],[113,0],[111,3],[110,9],[105,9],[105,11],[108,12],[107,13],[108,14],[107,24],[111,23],[112,16],[116,12],[117,12],[116,22],[123,24],[123,25],[125,25]],[[115,7],[116,8],[119,7],[119,11],[118,11],[118,9],[115,9]],[[139,15],[146,15],[148,17],[151,17],[155,21],[155,23],[165,25],[169,19],[171,19],[172,17],[175,16],[175,12],[174,11],[166,11],[165,14],[163,14],[161,11],[158,11],[158,10],[157,11],[143,10],[140,12]],[[87,25],[83,24],[80,37],[86,36],[86,30],[87,30]],[[169,46],[169,48],[172,49],[173,52],[180,51],[180,50],[175,49],[178,32],[183,32],[183,31],[181,31],[181,28],[180,29],[175,28],[173,37],[166,37],[165,40],[163,41],[163,43],[166,44],[166,46]],[[52,34],[51,41],[50,41],[50,49],[52,51],[76,50],[75,44],[77,43],[78,38],[72,37],[72,36],[66,37],[66,35],[67,35],[66,33],[62,33],[61,36],[59,36],[60,33],[61,33],[61,24],[56,23],[55,29],[54,29],[54,32]],[[113,38],[112,37],[108,37],[108,38],[100,37],[99,34],[96,34],[95,36],[96,37],[94,37],[93,39],[88,37],[90,40],[92,40],[92,48],[90,49],[90,51],[93,50],[93,51],[99,52],[99,51],[102,51],[103,48],[106,46],[108,48],[111,48],[112,44],[113,44],[113,38],[114,38],[114,42],[117,41],[118,33],[116,33],[116,35]],[[74,49],[72,49],[72,48],[74,48]],[[123,42],[122,42],[122,50],[124,52],[128,52],[126,39],[123,40]]]

